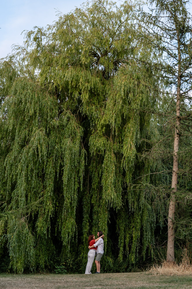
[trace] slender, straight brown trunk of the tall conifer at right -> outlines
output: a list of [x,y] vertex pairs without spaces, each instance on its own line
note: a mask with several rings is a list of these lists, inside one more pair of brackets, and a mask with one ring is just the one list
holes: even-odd
[[174,152],[173,152],[173,171],[172,171],[172,193],[169,202],[168,213],[168,239],[167,239],[167,262],[174,262],[174,218],[175,218],[175,192],[177,191],[178,177],[178,150],[179,150],[179,131],[180,131],[180,90],[181,90],[181,53],[180,39],[177,29],[178,40],[178,81],[177,81],[177,103],[176,103],[176,123],[174,137]]

